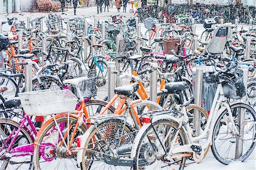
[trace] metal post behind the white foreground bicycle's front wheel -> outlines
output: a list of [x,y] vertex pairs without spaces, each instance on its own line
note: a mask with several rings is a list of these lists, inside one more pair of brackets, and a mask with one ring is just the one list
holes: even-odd
[[[246,65],[241,66],[241,70],[243,71],[243,84],[245,85],[245,91],[247,91],[247,80],[248,80],[248,73],[249,73],[249,67]],[[246,101],[246,96],[243,97],[243,101]],[[239,113],[239,111],[238,111]],[[243,129],[245,128],[245,111],[242,109],[241,114],[238,114],[237,117],[237,124],[238,124],[238,131],[240,132],[240,137],[237,137],[237,143],[236,143],[236,154],[235,158],[238,159],[242,156],[243,152]]]

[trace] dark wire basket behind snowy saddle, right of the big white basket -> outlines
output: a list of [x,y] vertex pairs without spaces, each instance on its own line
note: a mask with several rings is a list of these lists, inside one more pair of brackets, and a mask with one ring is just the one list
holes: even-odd
[[[94,97],[97,95],[97,72],[96,70],[76,70],[69,74],[69,79],[80,78],[86,76],[88,80],[84,80],[79,83],[79,88],[82,93],[82,96],[87,97]],[[75,88],[71,87],[71,91],[76,94]]]

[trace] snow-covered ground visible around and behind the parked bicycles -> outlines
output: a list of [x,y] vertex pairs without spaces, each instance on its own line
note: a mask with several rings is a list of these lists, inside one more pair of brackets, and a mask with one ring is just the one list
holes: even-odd
[[[126,15],[127,17],[133,16],[133,14],[129,13],[129,9],[131,8],[131,5],[129,5],[127,7],[127,12],[123,13],[121,12],[120,14]],[[122,10],[121,10],[122,11]],[[73,9],[69,9],[68,12],[65,12],[67,15],[63,15],[63,17],[68,17],[68,18],[72,18],[75,15],[73,15]],[[57,14],[61,14],[61,12],[57,12]],[[117,9],[114,8],[110,8],[109,12],[102,12],[101,14],[97,14],[97,8],[96,7],[88,7],[88,8],[77,8],[77,16],[81,16],[81,15],[96,15],[99,16],[100,20],[106,20],[108,19],[109,15],[115,15],[118,14]],[[32,19],[39,17],[39,16],[43,16],[43,15],[48,15],[47,13],[22,13],[22,15],[20,14],[10,14],[7,17],[10,16],[16,16],[18,17],[19,20],[24,20],[25,23],[27,23],[27,17],[30,16]],[[0,15],[0,20],[6,20],[6,15]],[[7,31],[9,29],[8,25],[3,25],[3,30]],[[146,31],[146,29],[142,29],[142,31]],[[196,28],[196,33],[198,33],[199,35],[201,34],[201,32],[204,31],[204,28],[202,25],[197,25]],[[104,94],[104,96],[107,94],[106,91],[102,91],[102,95]],[[100,95],[100,96],[102,96]],[[72,168],[71,168],[72,169]],[[147,168],[148,169],[148,168]],[[246,162],[234,162],[234,163],[230,163],[229,165],[223,165],[221,163],[219,163],[214,156],[212,155],[212,152],[209,151],[207,158],[205,158],[203,160],[203,162],[201,162],[200,164],[192,164],[189,165],[188,167],[186,167],[185,169],[240,169],[240,170],[247,170],[247,169],[256,169],[256,152],[254,150],[254,152],[250,155],[249,159],[246,160]]]

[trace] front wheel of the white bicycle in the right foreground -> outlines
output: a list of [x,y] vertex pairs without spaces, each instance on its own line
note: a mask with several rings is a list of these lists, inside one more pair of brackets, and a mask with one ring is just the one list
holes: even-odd
[[[218,162],[228,165],[232,161],[244,161],[255,147],[256,114],[253,108],[247,104],[238,103],[230,106],[232,118],[225,110],[218,117],[212,134],[212,152]],[[238,116],[244,114],[245,120],[240,124]],[[234,124],[232,124],[234,121]],[[237,135],[235,125],[240,134]],[[244,128],[240,129],[243,125]],[[237,153],[237,142],[242,145],[241,155]]]

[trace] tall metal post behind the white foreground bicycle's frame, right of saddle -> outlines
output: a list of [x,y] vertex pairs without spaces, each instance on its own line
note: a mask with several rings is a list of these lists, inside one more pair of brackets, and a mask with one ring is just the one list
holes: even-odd
[[[203,66],[196,66],[196,81],[195,81],[195,104],[201,106],[201,96],[203,87]],[[193,132],[197,137],[200,134],[200,113],[195,111],[193,114]]]

